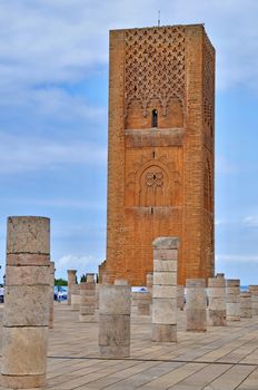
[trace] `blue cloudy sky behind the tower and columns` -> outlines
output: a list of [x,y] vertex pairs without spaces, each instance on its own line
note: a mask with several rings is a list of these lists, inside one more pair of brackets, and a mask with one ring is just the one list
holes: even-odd
[[257,0],[0,0],[1,265],[8,215],[51,217],[58,276],[105,259],[108,31],[158,10],[216,47],[216,269],[258,283]]

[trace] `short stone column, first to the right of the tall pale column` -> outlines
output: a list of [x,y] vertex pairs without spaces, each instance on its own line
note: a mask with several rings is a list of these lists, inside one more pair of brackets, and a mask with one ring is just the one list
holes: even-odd
[[187,331],[206,332],[207,295],[205,279],[186,280]]

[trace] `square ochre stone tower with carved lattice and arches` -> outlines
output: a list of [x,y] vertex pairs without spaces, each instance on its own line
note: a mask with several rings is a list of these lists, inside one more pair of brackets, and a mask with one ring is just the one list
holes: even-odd
[[214,276],[215,50],[202,25],[110,31],[106,272],[145,285],[180,238],[178,284]]

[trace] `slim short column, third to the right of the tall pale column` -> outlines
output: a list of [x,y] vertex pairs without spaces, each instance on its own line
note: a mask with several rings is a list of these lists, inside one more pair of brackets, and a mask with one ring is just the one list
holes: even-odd
[[240,280],[227,279],[226,281],[226,308],[227,320],[240,321]]

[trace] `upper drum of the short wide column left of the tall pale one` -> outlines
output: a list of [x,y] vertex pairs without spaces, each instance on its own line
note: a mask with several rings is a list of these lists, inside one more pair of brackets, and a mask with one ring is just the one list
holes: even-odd
[[128,285],[101,285],[99,289],[100,314],[130,314],[130,292]]

